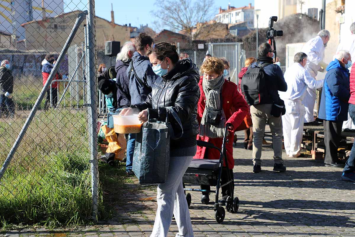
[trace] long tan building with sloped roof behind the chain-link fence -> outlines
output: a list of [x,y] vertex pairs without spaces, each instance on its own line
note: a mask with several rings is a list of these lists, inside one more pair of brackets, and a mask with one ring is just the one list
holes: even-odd
[[[27,50],[40,49],[48,52],[60,52],[75,23],[80,11],[67,12],[45,20],[30,21],[22,24],[25,28],[24,48]],[[120,41],[123,44],[130,40],[130,29],[127,26],[115,24],[96,16],[97,48],[103,49],[105,41]],[[85,21],[81,24],[72,44],[84,41]]]

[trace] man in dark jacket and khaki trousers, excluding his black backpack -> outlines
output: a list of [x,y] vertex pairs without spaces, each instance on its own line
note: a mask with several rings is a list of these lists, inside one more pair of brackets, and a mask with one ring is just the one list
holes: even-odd
[[268,99],[262,104],[253,105],[250,107],[251,119],[253,121],[253,172],[261,171],[261,149],[262,141],[265,131],[266,120],[268,121],[272,133],[272,142],[274,150],[274,171],[285,171],[286,167],[282,160],[282,119],[274,117],[272,108],[275,104],[283,104],[279,97],[278,91],[287,91],[287,84],[285,82],[282,70],[276,64],[273,64],[274,49],[268,43],[262,43],[258,48],[258,61],[251,64],[251,68],[258,66],[258,62],[264,66],[266,74],[266,84]]

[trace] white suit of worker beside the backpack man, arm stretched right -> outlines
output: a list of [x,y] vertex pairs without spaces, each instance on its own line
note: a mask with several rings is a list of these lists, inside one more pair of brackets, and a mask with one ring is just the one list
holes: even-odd
[[289,157],[297,156],[301,149],[303,123],[306,113],[302,103],[307,89],[318,89],[323,86],[324,80],[314,79],[299,63],[292,64],[284,75],[287,91],[279,92],[280,98],[285,101],[286,113],[282,115],[284,145]]

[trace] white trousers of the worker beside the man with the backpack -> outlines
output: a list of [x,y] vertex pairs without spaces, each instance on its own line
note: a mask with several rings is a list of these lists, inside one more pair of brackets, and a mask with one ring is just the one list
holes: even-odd
[[289,157],[297,155],[301,149],[305,106],[301,101],[285,100],[286,113],[282,115],[284,145]]

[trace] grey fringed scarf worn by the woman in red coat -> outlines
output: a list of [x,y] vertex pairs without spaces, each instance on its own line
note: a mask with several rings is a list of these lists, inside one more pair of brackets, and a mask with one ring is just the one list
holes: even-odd
[[[200,124],[200,135],[208,138],[223,138],[225,127],[225,114],[222,108],[221,90],[224,84],[224,76],[221,75],[215,79],[202,79],[202,89],[206,96],[206,108],[203,111],[202,120]],[[213,126],[206,124],[207,108],[221,109],[222,118],[219,125]]]

